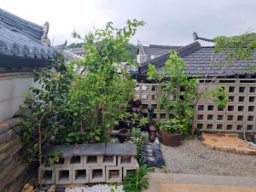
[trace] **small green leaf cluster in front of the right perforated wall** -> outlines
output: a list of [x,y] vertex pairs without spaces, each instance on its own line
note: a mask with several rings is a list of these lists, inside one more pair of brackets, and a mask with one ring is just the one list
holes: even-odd
[[218,86],[208,93],[212,97],[212,101],[218,104],[219,109],[224,109],[226,104],[230,102],[227,90],[223,86]]

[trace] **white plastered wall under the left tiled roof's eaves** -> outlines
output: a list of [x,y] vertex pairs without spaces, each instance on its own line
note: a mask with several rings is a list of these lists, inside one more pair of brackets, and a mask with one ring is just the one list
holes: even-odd
[[0,123],[14,116],[33,84],[32,73],[0,73]]

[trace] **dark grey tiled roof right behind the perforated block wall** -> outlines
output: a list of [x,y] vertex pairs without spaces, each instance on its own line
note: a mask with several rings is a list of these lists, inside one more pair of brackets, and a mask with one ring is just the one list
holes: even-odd
[[[219,73],[222,67],[212,66],[210,70],[207,70],[207,68],[212,63],[212,59],[217,59],[217,61],[221,64],[226,61],[226,56],[224,53],[214,53],[213,48],[214,47],[201,47],[201,44],[195,42],[181,49],[177,49],[177,55],[182,57],[183,61],[185,61],[187,64],[187,71],[189,75],[197,75],[198,71],[200,71],[202,75],[207,73],[209,76],[215,76]],[[141,73],[146,73],[148,71],[148,63],[154,64],[157,70],[161,71],[169,56],[170,54],[166,54],[154,60],[144,62],[140,67]],[[236,61],[230,65],[230,67],[227,67],[222,75],[228,76],[253,73],[246,70],[247,66],[256,67],[256,50],[254,50],[253,61]]]

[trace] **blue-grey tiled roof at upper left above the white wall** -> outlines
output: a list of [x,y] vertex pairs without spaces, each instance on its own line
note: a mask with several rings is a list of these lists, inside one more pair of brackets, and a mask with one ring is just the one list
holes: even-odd
[[0,55],[46,60],[53,57],[54,49],[44,44],[47,26],[45,31],[43,26],[0,9]]

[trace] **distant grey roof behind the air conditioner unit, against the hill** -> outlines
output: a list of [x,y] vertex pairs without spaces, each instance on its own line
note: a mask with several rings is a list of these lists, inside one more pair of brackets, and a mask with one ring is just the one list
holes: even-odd
[[168,46],[168,45],[157,45],[157,44],[149,44],[149,46],[139,46],[139,52],[142,55],[147,55],[148,60],[151,59],[151,55],[165,55],[170,50],[180,49],[182,46]]

